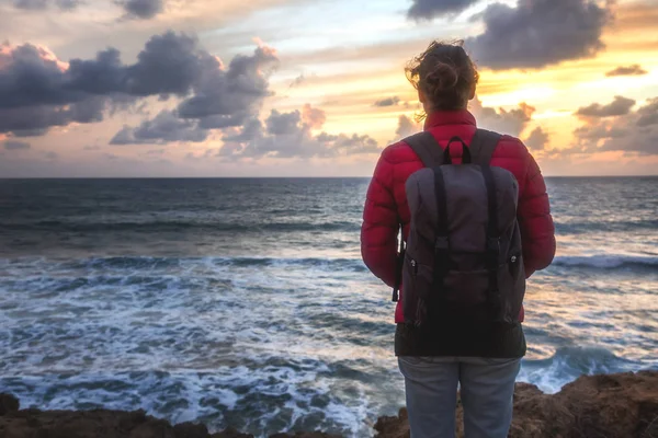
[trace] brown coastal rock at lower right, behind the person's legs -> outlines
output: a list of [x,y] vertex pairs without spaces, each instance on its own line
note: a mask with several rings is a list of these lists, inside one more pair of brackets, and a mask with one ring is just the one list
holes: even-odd
[[[463,437],[457,402],[457,437]],[[409,438],[407,411],[382,417],[377,438]],[[658,371],[586,376],[557,394],[518,383],[510,438],[658,437]]]

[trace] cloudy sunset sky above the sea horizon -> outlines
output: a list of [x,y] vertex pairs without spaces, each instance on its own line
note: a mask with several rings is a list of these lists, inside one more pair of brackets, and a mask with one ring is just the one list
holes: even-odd
[[0,177],[370,176],[404,68],[464,41],[469,111],[547,176],[658,174],[658,0],[0,0]]

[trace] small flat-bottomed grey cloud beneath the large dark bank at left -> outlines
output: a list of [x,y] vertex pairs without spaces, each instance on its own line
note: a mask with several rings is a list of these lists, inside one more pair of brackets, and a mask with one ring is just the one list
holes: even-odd
[[198,128],[196,122],[182,119],[171,111],[161,111],[154,119],[145,120],[139,126],[124,126],[110,145],[151,145],[175,141],[202,142],[208,131]]

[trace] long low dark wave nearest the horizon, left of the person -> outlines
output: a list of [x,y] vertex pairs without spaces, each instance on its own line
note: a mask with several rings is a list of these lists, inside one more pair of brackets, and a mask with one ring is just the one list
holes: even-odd
[[343,231],[358,232],[361,223],[348,221],[330,222],[263,222],[237,223],[212,221],[148,221],[148,222],[67,222],[42,220],[37,222],[0,223],[0,232],[5,231],[49,231],[49,232],[107,232],[133,231],[140,233],[211,231],[211,232],[305,232]]

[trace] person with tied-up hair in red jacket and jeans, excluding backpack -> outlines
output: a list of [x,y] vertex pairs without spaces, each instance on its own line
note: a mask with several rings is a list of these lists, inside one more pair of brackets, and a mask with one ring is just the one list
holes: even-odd
[[[406,73],[424,108],[423,130],[442,149],[455,136],[468,145],[476,132],[476,120],[467,103],[475,97],[479,77],[463,43],[431,43],[409,62]],[[463,149],[451,147],[449,152],[453,163],[460,164]],[[546,185],[534,158],[518,138],[500,137],[490,166],[506,169],[518,182],[517,221],[527,278],[547,267],[555,255]],[[405,184],[421,169],[423,163],[413,149],[404,140],[396,142],[382,152],[367,188],[361,229],[362,257],[368,269],[389,287],[396,286],[398,274],[399,228],[404,239],[409,235],[411,215]],[[513,323],[468,324],[446,314],[443,321],[418,327],[405,323],[404,283],[399,293],[395,354],[405,377],[411,438],[454,437],[457,388],[464,407],[465,436],[507,437],[514,381],[526,350],[523,308],[520,306]]]

